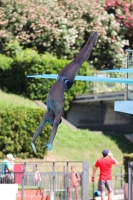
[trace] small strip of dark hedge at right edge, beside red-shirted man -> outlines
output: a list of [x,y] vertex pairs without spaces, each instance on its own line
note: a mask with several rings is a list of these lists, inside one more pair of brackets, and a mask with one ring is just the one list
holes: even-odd
[[123,156],[123,165],[124,165],[124,169],[125,169],[125,182],[128,183],[128,162],[133,161],[133,153],[131,154],[124,154]]

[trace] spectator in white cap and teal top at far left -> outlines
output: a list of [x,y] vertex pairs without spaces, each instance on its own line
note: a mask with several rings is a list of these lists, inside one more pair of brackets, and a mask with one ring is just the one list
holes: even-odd
[[14,160],[12,154],[7,154],[1,165],[1,182],[14,183]]

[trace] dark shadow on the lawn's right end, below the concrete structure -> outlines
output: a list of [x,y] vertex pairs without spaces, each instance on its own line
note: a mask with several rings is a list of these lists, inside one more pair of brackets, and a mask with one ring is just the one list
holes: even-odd
[[103,133],[105,136],[109,137],[111,140],[113,140],[119,147],[119,149],[123,153],[133,153],[133,143],[131,143],[124,134],[107,134]]

